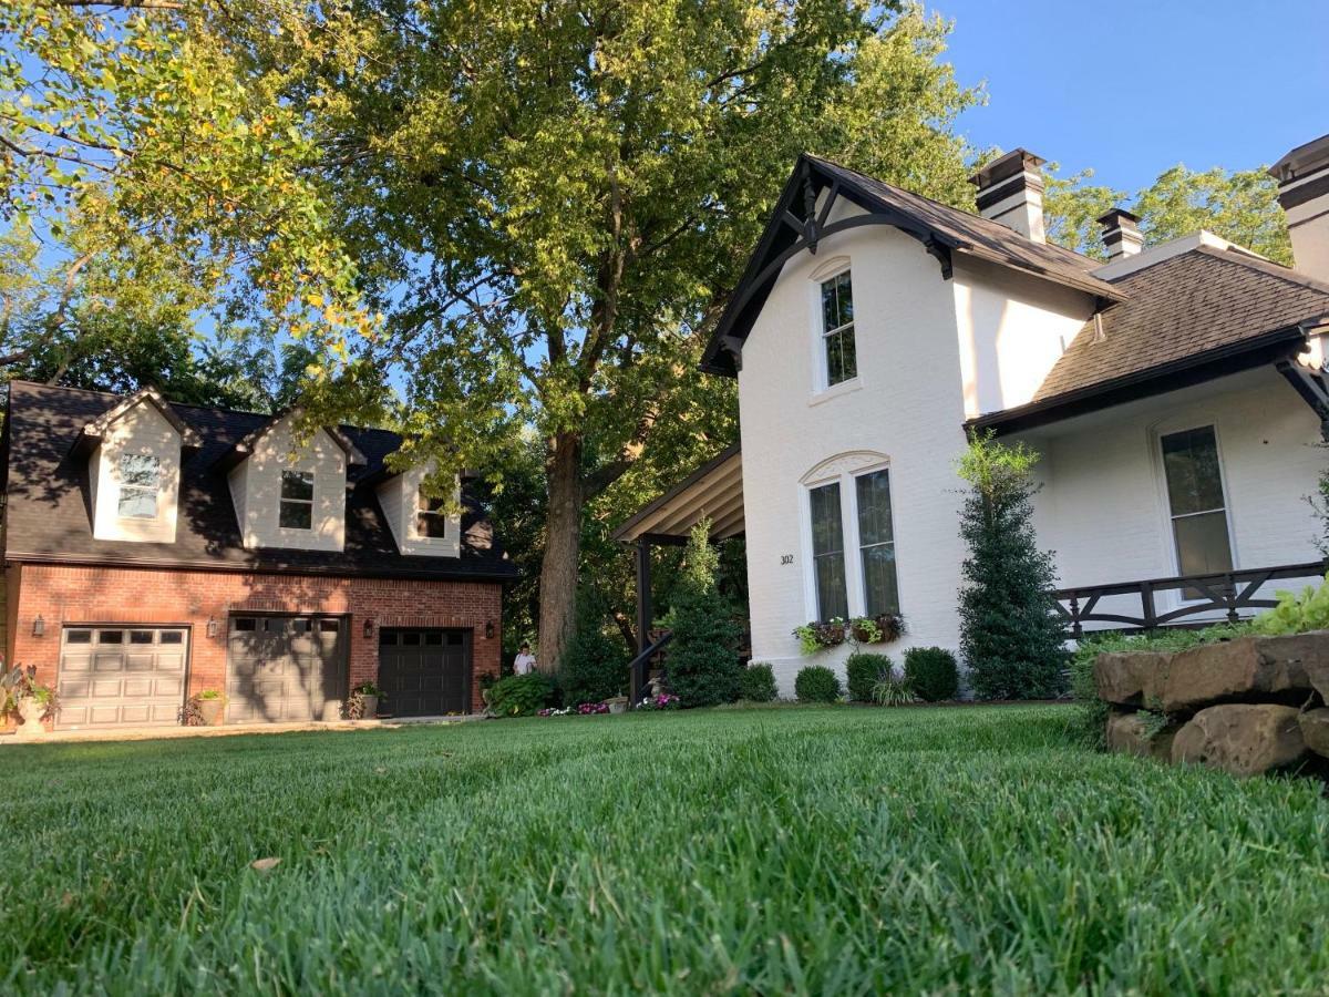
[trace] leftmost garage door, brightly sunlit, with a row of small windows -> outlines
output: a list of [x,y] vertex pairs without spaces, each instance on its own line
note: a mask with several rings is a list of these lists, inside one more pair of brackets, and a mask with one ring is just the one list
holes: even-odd
[[64,627],[56,726],[178,723],[187,651],[179,626]]

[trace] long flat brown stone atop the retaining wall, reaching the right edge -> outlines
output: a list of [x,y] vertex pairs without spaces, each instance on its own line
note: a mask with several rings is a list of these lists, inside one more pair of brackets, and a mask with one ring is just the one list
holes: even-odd
[[1310,694],[1316,669],[1329,679],[1329,633],[1241,637],[1191,647],[1174,654],[1164,670],[1162,709],[1191,713],[1233,701],[1293,703]]

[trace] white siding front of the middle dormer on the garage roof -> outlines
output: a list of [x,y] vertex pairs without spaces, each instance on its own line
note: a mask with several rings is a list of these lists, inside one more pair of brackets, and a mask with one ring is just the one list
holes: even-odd
[[[279,524],[282,471],[314,475],[312,529]],[[254,444],[254,452],[231,472],[231,495],[246,548],[342,550],[346,542],[346,453],[323,429],[306,443],[282,419]]]

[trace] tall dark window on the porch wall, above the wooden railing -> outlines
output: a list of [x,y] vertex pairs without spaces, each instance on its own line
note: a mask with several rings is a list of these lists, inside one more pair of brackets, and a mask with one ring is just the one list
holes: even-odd
[[[1232,570],[1228,509],[1213,427],[1166,433],[1160,441],[1179,573]],[[1196,589],[1187,589],[1184,596],[1200,598]]]

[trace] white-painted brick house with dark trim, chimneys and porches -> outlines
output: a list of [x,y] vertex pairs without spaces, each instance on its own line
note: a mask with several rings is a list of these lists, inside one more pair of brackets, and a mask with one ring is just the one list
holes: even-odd
[[1106,265],[1049,245],[1041,164],[979,170],[979,217],[801,157],[703,360],[739,380],[742,445],[618,530],[647,569],[702,516],[744,534],[752,657],[785,694],[812,619],[898,611],[886,653],[957,647],[975,429],[1042,455],[1039,542],[1086,629],[1247,614],[1260,570],[1318,568],[1329,136],[1275,166],[1302,270],[1209,233],[1143,247],[1126,211]]

